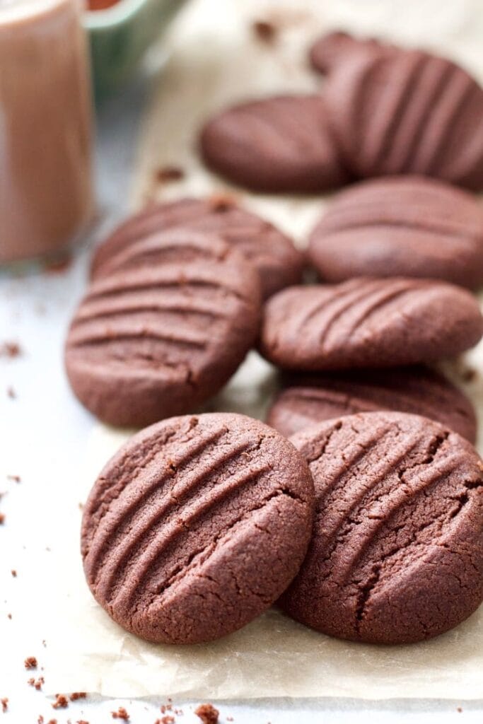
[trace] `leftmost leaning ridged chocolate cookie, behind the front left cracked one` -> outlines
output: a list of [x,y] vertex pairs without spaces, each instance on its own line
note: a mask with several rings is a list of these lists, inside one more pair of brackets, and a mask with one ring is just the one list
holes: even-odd
[[72,389],[112,425],[193,410],[253,345],[259,286],[253,266],[216,235],[159,235],[155,265],[121,266],[80,303],[66,345]]

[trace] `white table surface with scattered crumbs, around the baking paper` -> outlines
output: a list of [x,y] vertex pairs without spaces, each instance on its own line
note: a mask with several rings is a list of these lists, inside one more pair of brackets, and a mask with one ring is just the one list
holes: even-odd
[[[107,104],[101,111],[98,125],[98,195],[101,204],[101,228],[122,216],[130,184],[135,134],[139,111],[146,95],[142,86],[134,86],[122,98]],[[99,228],[95,235],[98,235]],[[0,625],[7,613],[15,616],[14,580],[29,576],[24,565],[32,546],[48,545],[49,526],[56,515],[62,515],[62,494],[49,497],[49,479],[63,476],[65,500],[75,495],[72,490],[74,472],[82,463],[85,444],[93,418],[70,393],[62,365],[62,346],[67,324],[80,295],[85,289],[88,240],[75,255],[75,261],[62,274],[45,274],[36,266],[5,270],[0,275],[0,344],[17,341],[22,355],[15,359],[0,357],[0,439],[1,464],[0,510],[6,515],[0,526]],[[7,394],[12,387],[16,397]],[[21,482],[7,479],[19,475]],[[55,566],[54,566],[55,568]],[[35,618],[35,599],[48,596],[49,575],[44,586],[32,579],[28,605]],[[59,572],[62,575],[62,572]],[[24,602],[25,603],[25,602]],[[7,621],[7,624],[9,622]],[[0,628],[1,630],[1,628]],[[39,636],[41,625],[39,623]],[[38,642],[35,641],[35,652]],[[71,703],[66,710],[51,708],[52,698],[27,685],[30,674],[49,676],[49,671],[27,672],[21,662],[32,651],[22,644],[17,650],[5,647],[0,640],[0,672],[11,669],[8,683],[0,675],[0,698],[7,696],[9,709],[0,711],[0,724],[5,722],[35,723],[39,715],[44,721],[58,724],[86,720],[90,724],[113,721],[111,712],[123,705],[130,721],[154,723],[161,717],[161,699],[109,700],[96,695]],[[34,642],[33,642],[34,648]],[[274,662],[274,666],[277,662]],[[483,672],[482,672],[483,675]],[[52,683],[52,682],[50,682]],[[220,722],[233,717],[235,723],[272,724],[297,722],[371,722],[408,721],[446,723],[483,721],[483,702],[436,700],[389,700],[367,702],[357,699],[262,699],[258,702],[219,702]],[[183,714],[180,723],[199,719],[193,709],[200,702],[173,702]],[[215,702],[216,703],[216,702]],[[458,709],[461,708],[462,711]],[[169,712],[167,712],[169,713]],[[117,720],[119,721],[119,720]]]

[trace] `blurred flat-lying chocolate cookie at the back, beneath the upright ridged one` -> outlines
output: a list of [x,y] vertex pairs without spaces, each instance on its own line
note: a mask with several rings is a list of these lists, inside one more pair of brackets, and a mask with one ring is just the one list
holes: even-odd
[[321,96],[275,96],[222,111],[201,133],[206,165],[254,191],[311,193],[347,180]]

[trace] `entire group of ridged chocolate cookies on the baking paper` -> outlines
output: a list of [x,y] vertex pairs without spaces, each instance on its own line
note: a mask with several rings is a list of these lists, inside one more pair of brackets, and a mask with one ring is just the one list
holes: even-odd
[[[344,33],[311,62],[321,94],[201,132],[211,169],[253,190],[358,180],[306,253],[227,199],[151,206],[98,247],[67,337],[85,407],[149,425],[82,529],[93,595],[148,641],[211,641],[277,602],[330,636],[410,643],[483,599],[476,418],[433,369],[483,334],[483,93],[445,59]],[[197,413],[252,348],[280,370],[266,424]]]

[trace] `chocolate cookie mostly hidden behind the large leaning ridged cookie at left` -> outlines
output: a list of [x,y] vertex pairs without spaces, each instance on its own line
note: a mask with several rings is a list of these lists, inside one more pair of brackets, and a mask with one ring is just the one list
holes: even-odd
[[[290,239],[273,224],[241,209],[230,198],[221,197],[183,198],[150,206],[131,216],[96,249],[92,277],[97,279],[112,274],[129,260],[129,263],[143,261],[135,249],[126,254],[127,248],[175,227],[216,233],[238,248],[259,271],[264,298],[301,281],[303,254],[295,249]],[[156,261],[154,251],[145,256],[149,263]]]

